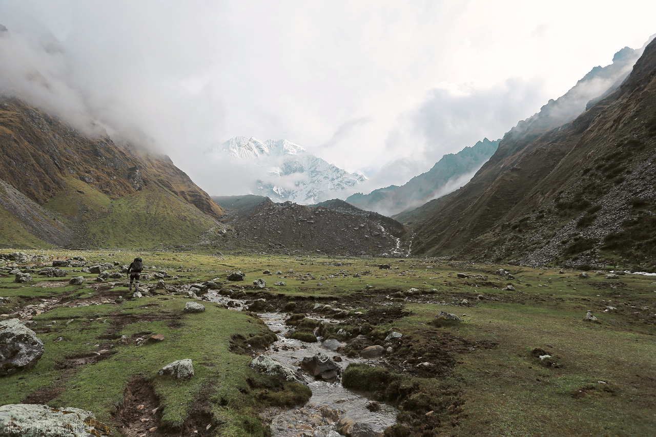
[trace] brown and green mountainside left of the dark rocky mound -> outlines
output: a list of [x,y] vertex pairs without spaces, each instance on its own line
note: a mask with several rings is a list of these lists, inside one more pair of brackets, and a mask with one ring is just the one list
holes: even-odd
[[0,100],[0,185],[16,235],[37,238],[7,233],[4,245],[154,245],[173,231],[171,243],[189,243],[224,214],[168,157],[84,135],[14,98]]

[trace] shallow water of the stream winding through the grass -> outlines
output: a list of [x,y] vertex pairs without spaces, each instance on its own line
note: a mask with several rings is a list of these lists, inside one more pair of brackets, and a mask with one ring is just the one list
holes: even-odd
[[[227,304],[229,301],[243,306],[244,301],[230,299],[216,293],[208,293],[209,301]],[[234,309],[241,310],[241,306]],[[338,356],[337,365],[342,371],[350,363],[375,364],[374,360],[362,358],[348,358],[332,350],[321,347],[321,338],[318,343],[305,343],[296,339],[286,339],[285,334],[289,327],[285,325],[285,314],[276,312],[258,313],[266,325],[276,333],[277,341],[272,344],[264,354],[277,360],[291,369],[298,369],[304,357],[326,354],[330,357]],[[329,318],[312,317],[323,323],[335,323],[337,320]],[[337,361],[336,360],[336,361]],[[385,428],[396,423],[398,410],[392,406],[373,402],[371,399],[352,392],[338,380],[335,383],[326,381],[312,381],[312,376],[306,376],[311,381],[308,386],[312,390],[312,397],[305,406],[294,409],[270,411],[268,419],[271,424],[273,437],[291,436],[338,436],[336,422],[338,419],[348,418],[353,423],[366,424],[374,432],[382,432]],[[372,411],[373,410],[373,411]]]

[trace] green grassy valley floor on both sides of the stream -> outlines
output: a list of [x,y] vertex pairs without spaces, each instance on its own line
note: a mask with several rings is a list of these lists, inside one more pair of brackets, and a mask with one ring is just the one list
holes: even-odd
[[[182,311],[193,299],[181,290],[214,280],[222,295],[266,299],[299,320],[338,318],[319,335],[347,343],[341,352],[349,356],[368,344],[387,347],[390,332],[402,333],[380,360],[343,375],[345,386],[399,408],[388,436],[646,436],[656,428],[656,276],[591,271],[584,279],[577,270],[443,259],[27,253],[47,266],[75,255],[87,266],[140,256],[151,293],[127,299],[125,278],[95,281],[80,268],[62,268],[77,270],[66,278],[34,272],[26,284],[0,270],[0,297],[9,297],[0,320],[36,322],[31,329],[45,344],[35,367],[0,377],[2,405],[87,409],[125,436],[269,435],[264,411],[302,405],[309,390],[249,367],[272,340],[253,314],[201,301],[205,312]],[[38,263],[6,264],[38,271]],[[235,270],[245,281],[226,279]],[[154,274],[164,271],[166,288],[155,289]],[[70,285],[72,276],[85,282]],[[252,285],[258,278],[265,289]],[[436,318],[441,311],[461,322]],[[598,320],[584,320],[588,311]],[[311,333],[315,325],[306,325]],[[155,334],[164,341],[147,341]],[[357,335],[365,344],[352,341]],[[182,358],[194,362],[194,377],[157,375]]]

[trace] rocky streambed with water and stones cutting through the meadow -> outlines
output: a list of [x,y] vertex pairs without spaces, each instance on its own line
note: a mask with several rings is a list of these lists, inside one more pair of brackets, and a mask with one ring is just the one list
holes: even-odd
[[[241,310],[246,304],[245,301],[212,292],[207,293],[205,299],[226,304],[236,310]],[[378,436],[385,428],[396,423],[396,408],[374,402],[366,394],[352,392],[344,388],[340,381],[339,375],[348,364],[375,365],[376,359],[342,356],[336,351],[343,343],[335,340],[321,341],[321,337],[318,337],[318,342],[308,343],[287,338],[287,333],[293,328],[285,324],[285,314],[260,312],[258,316],[277,337],[277,341],[263,355],[293,369],[298,379],[306,381],[312,390],[312,397],[306,405],[268,412],[266,419],[270,421],[272,436],[337,437],[347,432],[354,437]],[[312,318],[321,323],[339,323],[330,318]],[[337,366],[337,369],[333,366]],[[319,375],[314,377],[313,373]],[[333,378],[335,373],[337,376]]]

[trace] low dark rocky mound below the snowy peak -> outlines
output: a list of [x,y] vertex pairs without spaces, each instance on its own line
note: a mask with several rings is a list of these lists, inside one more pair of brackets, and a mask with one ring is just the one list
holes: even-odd
[[401,223],[342,200],[305,206],[260,196],[214,197],[232,226],[218,249],[329,255],[407,255],[411,232]]

